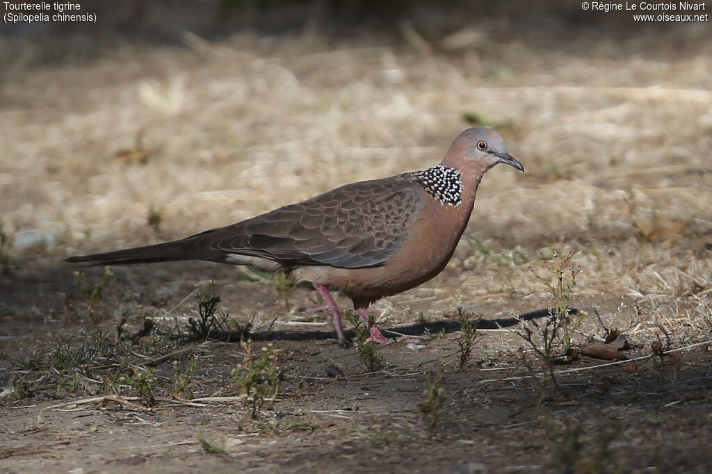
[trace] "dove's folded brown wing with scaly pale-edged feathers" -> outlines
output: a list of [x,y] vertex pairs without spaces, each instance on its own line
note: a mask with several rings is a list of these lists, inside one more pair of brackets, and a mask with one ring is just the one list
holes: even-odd
[[373,267],[402,246],[423,206],[422,193],[407,175],[360,181],[216,229],[201,243],[283,265]]

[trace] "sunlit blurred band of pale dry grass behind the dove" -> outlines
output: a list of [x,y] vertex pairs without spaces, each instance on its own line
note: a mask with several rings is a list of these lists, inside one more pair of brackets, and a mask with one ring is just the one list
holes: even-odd
[[[427,167],[466,126],[464,112],[478,112],[511,123],[502,132],[527,173],[488,175],[474,236],[499,251],[584,241],[597,256],[583,257],[596,270],[582,285],[599,280],[614,293],[683,283],[674,272],[672,282],[651,278],[676,257],[681,270],[709,278],[709,262],[685,252],[708,244],[712,229],[712,94],[699,89],[709,58],[538,51],[540,70],[519,43],[446,56],[191,39],[193,51],[51,68],[10,87],[20,105],[0,112],[0,206],[4,228],[26,233],[16,242],[38,229],[61,246],[53,255],[147,243],[151,209],[162,209],[162,238],[220,226],[348,181]],[[493,73],[501,68],[504,79]],[[142,133],[145,166],[115,159]],[[634,223],[657,215],[688,223],[691,236],[635,241]],[[618,278],[621,265],[632,280]]]

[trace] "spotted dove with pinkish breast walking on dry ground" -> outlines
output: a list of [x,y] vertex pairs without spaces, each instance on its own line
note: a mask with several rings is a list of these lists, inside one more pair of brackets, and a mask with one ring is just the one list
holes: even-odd
[[[66,260],[90,265],[208,260],[283,271],[296,283],[313,285],[345,344],[330,290],[350,297],[367,324],[372,302],[440,273],[468,223],[478,184],[498,163],[524,171],[497,132],[469,128],[440,164],[422,171],[346,184],[177,241]],[[370,334],[375,342],[390,341],[375,325]]]

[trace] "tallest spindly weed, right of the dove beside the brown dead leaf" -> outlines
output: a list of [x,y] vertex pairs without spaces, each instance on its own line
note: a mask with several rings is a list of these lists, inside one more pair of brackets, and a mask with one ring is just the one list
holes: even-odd
[[[572,258],[570,252],[563,258],[559,258],[558,253],[554,252],[553,257],[553,262],[548,266],[553,275],[553,283],[537,273],[534,268],[530,267],[529,270],[549,289],[555,307],[550,308],[550,315],[544,318],[543,324],[537,320],[522,321],[522,325],[516,333],[534,349],[537,357],[544,363],[545,374],[554,388],[559,391],[559,384],[554,372],[554,358],[560,346],[566,349],[571,347],[572,337],[580,326],[584,313],[577,312],[572,317],[572,311],[570,311],[570,302],[576,288],[577,275],[581,273],[581,267],[570,264]],[[568,278],[566,278],[567,274],[570,275]],[[525,366],[535,376],[535,371],[523,352],[522,357]],[[545,396],[546,386],[546,380],[540,381],[539,388],[542,399]]]

